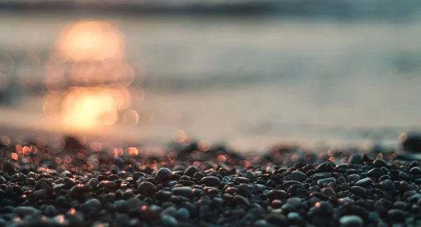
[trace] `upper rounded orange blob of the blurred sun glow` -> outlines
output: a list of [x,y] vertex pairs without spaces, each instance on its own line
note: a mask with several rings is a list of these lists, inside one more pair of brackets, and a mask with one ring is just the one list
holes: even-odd
[[74,62],[119,58],[124,51],[123,35],[109,22],[84,20],[67,27],[56,46]]

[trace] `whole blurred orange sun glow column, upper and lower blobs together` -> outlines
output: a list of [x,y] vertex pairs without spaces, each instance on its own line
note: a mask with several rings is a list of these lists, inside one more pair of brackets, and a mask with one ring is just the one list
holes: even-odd
[[[58,116],[70,130],[92,130],[114,125],[124,115],[138,114],[132,99],[142,99],[141,88],[126,61],[125,40],[114,22],[83,20],[65,27],[47,60],[44,114]],[[140,95],[141,94],[141,95]],[[140,98],[141,96],[141,98]],[[126,113],[124,113],[126,111]]]

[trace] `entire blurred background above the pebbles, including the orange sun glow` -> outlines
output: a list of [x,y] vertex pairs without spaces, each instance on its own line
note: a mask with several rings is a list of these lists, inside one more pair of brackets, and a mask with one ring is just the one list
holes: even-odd
[[262,151],[421,128],[417,1],[0,1],[0,34],[3,139]]

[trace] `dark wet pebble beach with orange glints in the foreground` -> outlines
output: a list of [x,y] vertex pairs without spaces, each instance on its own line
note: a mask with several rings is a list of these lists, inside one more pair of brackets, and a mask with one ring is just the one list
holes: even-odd
[[67,143],[1,145],[0,226],[421,224],[420,162],[394,149],[248,157],[192,142],[147,156]]

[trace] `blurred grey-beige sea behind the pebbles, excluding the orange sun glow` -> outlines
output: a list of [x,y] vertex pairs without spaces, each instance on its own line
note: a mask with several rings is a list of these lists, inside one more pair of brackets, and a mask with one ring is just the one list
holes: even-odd
[[[36,83],[65,25],[90,19],[119,27],[137,76],[133,85],[145,91],[132,109],[149,120],[110,137],[161,143],[184,130],[260,151],[280,142],[394,146],[402,132],[421,128],[421,4],[415,1],[244,2],[238,12],[236,1],[151,2],[42,13],[2,2],[9,9],[0,12],[1,54],[14,59],[17,75]],[[27,53],[38,63],[19,57]],[[0,107],[0,124],[41,127],[25,115],[42,115],[34,88],[5,92],[16,101]]]

